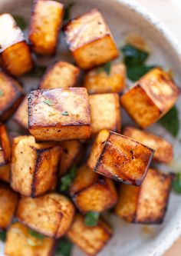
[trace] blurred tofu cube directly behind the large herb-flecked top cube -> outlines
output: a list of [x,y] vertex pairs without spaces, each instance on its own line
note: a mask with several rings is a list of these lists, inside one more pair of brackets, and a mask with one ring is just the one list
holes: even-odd
[[41,79],[41,89],[68,88],[73,87],[80,69],[68,62],[55,62],[45,72]]

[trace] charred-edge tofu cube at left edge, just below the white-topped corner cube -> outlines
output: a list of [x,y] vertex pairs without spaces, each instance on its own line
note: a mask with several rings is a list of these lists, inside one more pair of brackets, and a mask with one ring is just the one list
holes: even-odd
[[0,71],[0,121],[6,121],[13,114],[24,95],[18,81]]

